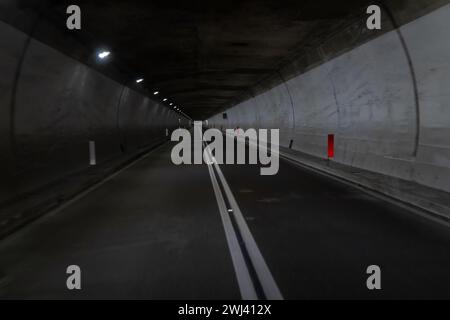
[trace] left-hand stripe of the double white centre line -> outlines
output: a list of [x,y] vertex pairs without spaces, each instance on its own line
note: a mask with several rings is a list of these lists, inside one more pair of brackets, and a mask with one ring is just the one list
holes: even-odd
[[248,271],[247,264],[245,263],[244,255],[242,254],[241,247],[239,246],[230,216],[227,213],[227,207],[222,192],[220,191],[219,183],[217,182],[212,165],[208,164],[207,166],[214,189],[214,194],[216,195],[217,205],[219,206],[220,217],[222,218],[228,249],[230,250],[231,260],[233,261],[233,267],[236,273],[241,297],[244,300],[257,300],[258,295],[256,294],[250,272]]

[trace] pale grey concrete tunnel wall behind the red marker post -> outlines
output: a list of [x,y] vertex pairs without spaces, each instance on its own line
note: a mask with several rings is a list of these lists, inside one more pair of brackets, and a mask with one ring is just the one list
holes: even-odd
[[281,146],[293,140],[293,149],[321,158],[327,157],[327,135],[334,134],[334,161],[449,192],[449,39],[445,5],[208,124],[277,128]]

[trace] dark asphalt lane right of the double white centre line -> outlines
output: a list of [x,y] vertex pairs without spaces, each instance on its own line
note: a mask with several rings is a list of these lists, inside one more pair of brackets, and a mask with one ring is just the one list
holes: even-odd
[[448,226],[283,158],[273,176],[221,168],[286,299],[450,297]]

